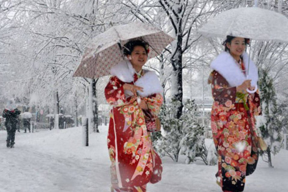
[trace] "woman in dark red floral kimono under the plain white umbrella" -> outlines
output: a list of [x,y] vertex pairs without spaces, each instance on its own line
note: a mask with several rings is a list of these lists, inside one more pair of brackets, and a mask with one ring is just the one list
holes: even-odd
[[[245,51],[249,39],[227,36],[225,52],[211,63],[214,103],[211,129],[218,153],[217,184],[224,192],[243,191],[245,176],[253,173],[258,161],[255,115],[260,115],[258,91],[249,94],[258,81],[252,60],[246,80],[249,56]],[[252,132],[251,132],[252,130]]]

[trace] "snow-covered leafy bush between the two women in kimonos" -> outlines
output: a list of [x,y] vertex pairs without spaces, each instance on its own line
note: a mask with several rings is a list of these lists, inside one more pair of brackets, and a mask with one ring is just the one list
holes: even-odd
[[194,101],[187,100],[179,119],[175,117],[175,109],[179,101],[164,104],[159,114],[164,133],[152,136],[155,149],[162,156],[169,156],[173,161],[178,161],[179,154],[186,156],[186,163],[201,158],[207,164],[207,150],[205,147],[204,128],[195,118],[197,106]]

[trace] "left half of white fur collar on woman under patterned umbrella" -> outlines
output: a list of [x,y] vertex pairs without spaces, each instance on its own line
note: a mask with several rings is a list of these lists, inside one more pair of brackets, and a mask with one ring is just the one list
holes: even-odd
[[132,82],[136,73],[130,61],[120,61],[110,69],[110,74],[117,76],[123,82]]

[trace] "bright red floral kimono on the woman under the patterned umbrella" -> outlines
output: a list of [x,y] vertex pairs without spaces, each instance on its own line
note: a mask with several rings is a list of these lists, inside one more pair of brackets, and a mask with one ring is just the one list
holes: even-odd
[[[134,75],[134,82],[136,80],[137,75]],[[161,180],[162,163],[152,147],[137,98],[125,97],[125,83],[112,76],[105,88],[107,102],[113,106],[107,142],[112,163],[111,182],[116,191],[145,192],[148,182]],[[146,101],[149,113],[157,116],[163,102],[162,95],[154,94],[142,99]]]

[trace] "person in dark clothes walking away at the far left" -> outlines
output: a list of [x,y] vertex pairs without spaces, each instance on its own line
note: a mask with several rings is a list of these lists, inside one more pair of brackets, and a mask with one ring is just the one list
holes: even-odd
[[15,132],[18,124],[18,117],[20,115],[20,111],[16,108],[16,104],[14,99],[10,99],[7,102],[7,105],[3,111],[2,117],[5,118],[5,127],[7,131],[7,140],[6,146],[13,148],[15,144]]

